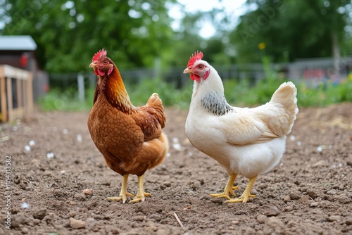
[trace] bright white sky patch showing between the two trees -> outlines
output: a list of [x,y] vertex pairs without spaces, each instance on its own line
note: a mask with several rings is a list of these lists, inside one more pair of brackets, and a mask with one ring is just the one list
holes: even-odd
[[[169,15],[174,18],[172,23],[172,29],[178,30],[180,27],[180,20],[184,16],[184,11],[189,13],[196,13],[197,11],[212,11],[213,9],[223,9],[225,15],[230,15],[231,24],[230,27],[234,28],[239,20],[239,16],[243,15],[248,9],[244,6],[246,0],[178,0],[178,2],[184,5],[184,8],[180,5],[170,6]],[[208,39],[212,37],[216,32],[210,21],[203,22],[203,27],[200,31],[200,36]]]

